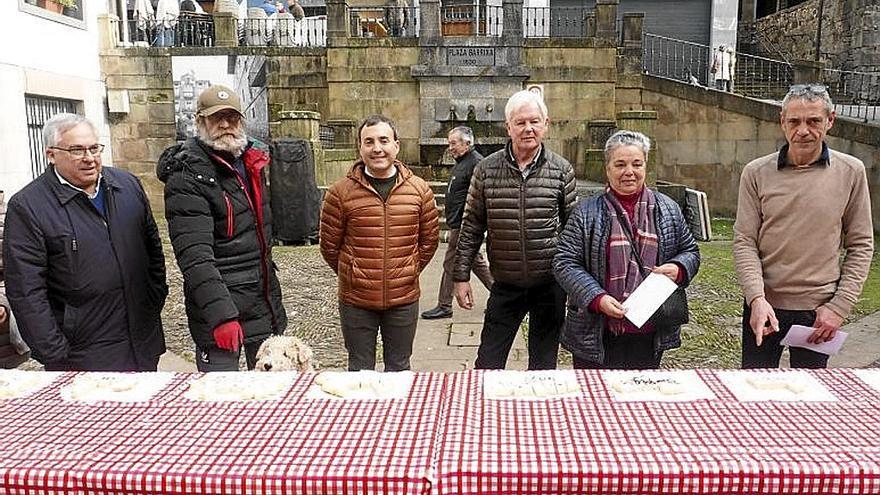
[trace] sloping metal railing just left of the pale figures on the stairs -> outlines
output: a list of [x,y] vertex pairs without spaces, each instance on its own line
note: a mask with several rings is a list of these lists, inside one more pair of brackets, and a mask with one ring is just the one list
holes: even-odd
[[650,33],[642,40],[642,69],[653,76],[707,86],[710,56],[709,47],[699,43]]

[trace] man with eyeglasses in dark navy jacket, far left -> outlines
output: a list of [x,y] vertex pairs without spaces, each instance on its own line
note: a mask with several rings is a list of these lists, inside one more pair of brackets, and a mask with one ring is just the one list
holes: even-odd
[[51,371],[155,371],[165,256],[140,181],[103,168],[94,124],[58,114],[43,128],[48,169],[15,194],[3,255],[12,312]]

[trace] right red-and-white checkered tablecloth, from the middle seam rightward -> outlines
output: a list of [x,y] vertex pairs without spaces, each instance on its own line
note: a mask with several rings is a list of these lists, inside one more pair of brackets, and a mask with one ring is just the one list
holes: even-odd
[[449,375],[440,494],[880,493],[880,394],[849,370],[810,372],[833,402],[614,401],[599,371],[582,398],[487,400],[486,373]]

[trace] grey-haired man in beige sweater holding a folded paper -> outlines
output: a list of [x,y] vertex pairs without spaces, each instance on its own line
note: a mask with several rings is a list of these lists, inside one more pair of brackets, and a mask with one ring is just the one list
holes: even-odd
[[[865,166],[828,148],[834,106],[824,86],[797,84],[782,101],[788,144],[743,169],[733,254],[745,297],[743,368],[779,366],[792,325],[831,340],[855,305],[874,250]],[[840,249],[843,248],[843,261]],[[791,366],[828,356],[790,349]]]

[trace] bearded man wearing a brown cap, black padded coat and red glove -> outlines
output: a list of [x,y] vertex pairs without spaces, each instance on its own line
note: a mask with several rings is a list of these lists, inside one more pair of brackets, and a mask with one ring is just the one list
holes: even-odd
[[272,261],[269,150],[245,135],[241,100],[225,86],[199,96],[196,129],[156,169],[196,365],[236,371],[244,347],[253,369],[260,344],[287,326]]

